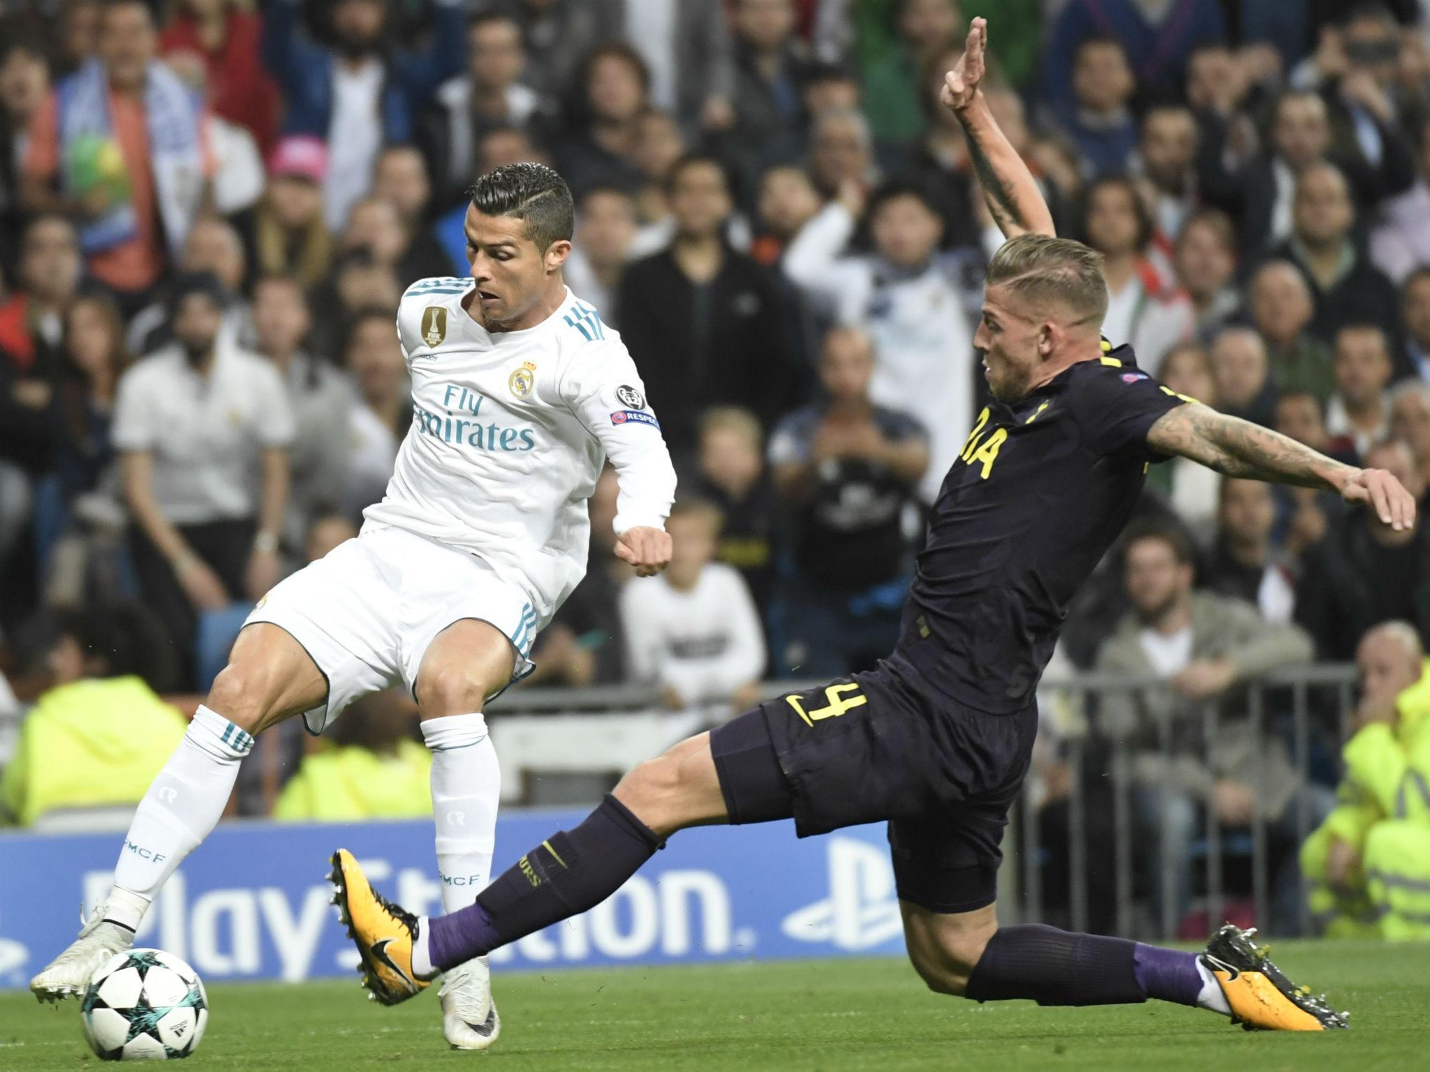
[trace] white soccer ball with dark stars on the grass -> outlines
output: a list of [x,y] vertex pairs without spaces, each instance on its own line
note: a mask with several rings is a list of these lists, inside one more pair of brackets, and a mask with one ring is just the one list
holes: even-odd
[[209,998],[193,968],[177,956],[129,949],[90,976],[80,1023],[102,1061],[186,1058],[209,1023]]

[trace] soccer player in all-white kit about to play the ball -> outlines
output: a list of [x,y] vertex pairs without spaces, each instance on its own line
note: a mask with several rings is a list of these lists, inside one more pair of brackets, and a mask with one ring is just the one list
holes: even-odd
[[[566,183],[522,163],[470,194],[470,276],[415,283],[398,310],[413,419],[386,495],[356,539],[259,600],[140,802],[106,903],[31,981],[41,1001],[83,992],[133,945],[159,888],[217,823],[255,736],[292,715],[322,732],[398,683],[433,753],[442,908],[470,903],[490,876],[500,789],[482,706],[532,670],[532,642],[585,575],[586,499],[606,457],[616,555],[641,576],[669,562],[675,470],[661,426],[619,336],[562,282]],[[485,959],[446,975],[442,1011],[452,1046],[496,1039]]]

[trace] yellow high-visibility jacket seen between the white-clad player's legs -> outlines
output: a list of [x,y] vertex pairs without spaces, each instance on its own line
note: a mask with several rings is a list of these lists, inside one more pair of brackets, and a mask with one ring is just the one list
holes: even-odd
[[352,822],[432,815],[432,753],[413,740],[379,755],[358,745],[305,756],[275,819]]

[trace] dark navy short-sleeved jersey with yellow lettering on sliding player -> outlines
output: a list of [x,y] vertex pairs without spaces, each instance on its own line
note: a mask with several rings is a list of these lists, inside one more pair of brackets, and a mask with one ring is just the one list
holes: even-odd
[[1027,397],[990,402],[934,503],[895,662],[975,710],[1027,708],[1068,600],[1163,460],[1148,429],[1185,402],[1105,343]]

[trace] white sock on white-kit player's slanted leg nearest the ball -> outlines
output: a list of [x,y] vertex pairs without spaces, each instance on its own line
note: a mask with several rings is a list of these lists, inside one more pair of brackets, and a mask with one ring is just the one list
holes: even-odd
[[239,760],[253,738],[202,706],[163,769],[139,802],[114,868],[104,918],[139,929],[149,902],[223,815]]

